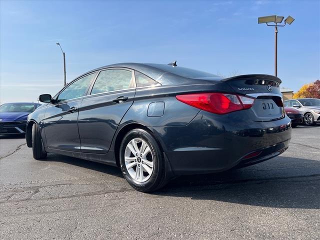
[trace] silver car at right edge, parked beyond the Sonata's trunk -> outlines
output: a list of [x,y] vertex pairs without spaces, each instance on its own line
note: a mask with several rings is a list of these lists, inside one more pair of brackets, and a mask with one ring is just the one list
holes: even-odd
[[303,122],[306,125],[315,125],[320,122],[320,99],[297,98],[283,101],[285,106],[299,109],[303,115]]

